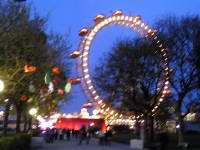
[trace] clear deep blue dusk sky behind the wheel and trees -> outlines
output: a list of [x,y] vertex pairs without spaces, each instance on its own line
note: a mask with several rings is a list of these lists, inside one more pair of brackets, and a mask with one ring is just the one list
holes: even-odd
[[[142,20],[150,25],[165,15],[200,15],[200,0],[31,0],[31,2],[41,16],[49,16],[48,30],[60,34],[69,33],[72,51],[77,49],[80,42],[79,30],[92,26],[93,18],[97,14],[109,16],[120,9],[126,15],[140,15]],[[102,55],[111,49],[116,39],[134,35],[134,32],[129,31],[129,29],[108,27],[99,33],[91,48],[90,64],[98,64]],[[66,59],[69,59],[67,55]],[[70,101],[62,107],[63,112],[80,111],[82,104],[87,100],[79,86],[73,87],[71,94]]]

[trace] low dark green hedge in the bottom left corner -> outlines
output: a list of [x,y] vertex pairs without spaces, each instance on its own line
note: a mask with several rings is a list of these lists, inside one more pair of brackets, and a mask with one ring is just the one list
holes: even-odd
[[1,150],[28,150],[31,136],[26,134],[10,135],[0,138]]

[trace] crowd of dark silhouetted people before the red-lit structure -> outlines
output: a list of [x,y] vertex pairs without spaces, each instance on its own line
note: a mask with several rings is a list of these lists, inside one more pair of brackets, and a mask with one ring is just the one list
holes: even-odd
[[55,140],[70,141],[73,138],[77,140],[78,145],[81,145],[82,143],[89,144],[91,138],[95,137],[99,139],[100,145],[110,145],[110,137],[112,136],[112,131],[108,130],[106,132],[96,132],[87,126],[82,126],[80,130],[48,128],[44,135],[45,141],[47,143],[53,143]]

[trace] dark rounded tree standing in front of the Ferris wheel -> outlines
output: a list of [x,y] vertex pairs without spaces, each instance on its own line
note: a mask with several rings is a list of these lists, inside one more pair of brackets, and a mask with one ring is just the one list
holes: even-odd
[[149,39],[118,41],[104,62],[96,68],[95,81],[108,103],[114,107],[143,115],[151,127],[152,109],[163,90],[161,57]]

